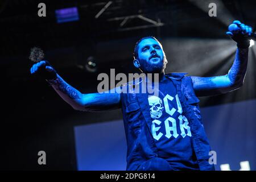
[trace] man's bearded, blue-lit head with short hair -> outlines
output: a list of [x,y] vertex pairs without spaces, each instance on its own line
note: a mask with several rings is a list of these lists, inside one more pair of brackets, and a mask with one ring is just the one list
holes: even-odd
[[145,73],[163,73],[165,56],[162,46],[155,39],[143,39],[138,45],[140,69]]

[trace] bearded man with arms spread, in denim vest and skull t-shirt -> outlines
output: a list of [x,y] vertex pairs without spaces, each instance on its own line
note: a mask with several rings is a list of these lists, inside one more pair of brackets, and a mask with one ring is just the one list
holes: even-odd
[[[159,74],[157,96],[117,92],[120,88],[115,88],[114,93],[82,94],[67,84],[48,61],[34,64],[31,74],[46,78],[73,109],[122,108],[127,170],[214,170],[214,165],[209,163],[210,146],[197,97],[227,93],[243,84],[252,30],[237,20],[233,24],[239,29],[227,34],[237,42],[236,59],[223,76],[166,74],[167,59],[160,42],[151,36],[139,40],[134,48],[134,66],[143,73]],[[135,90],[142,84],[126,86]]]

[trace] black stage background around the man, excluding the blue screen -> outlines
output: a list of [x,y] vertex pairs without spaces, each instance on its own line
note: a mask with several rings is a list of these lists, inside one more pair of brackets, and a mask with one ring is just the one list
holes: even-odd
[[[38,16],[38,3],[46,4],[46,17]],[[217,4],[217,17],[209,17],[208,5]],[[75,111],[42,78],[31,76],[30,49],[39,46],[60,76],[81,92],[97,92],[97,75],[134,73],[133,47],[143,36],[163,42],[169,61],[166,72],[195,76],[226,74],[233,63],[236,43],[225,35],[238,19],[255,27],[253,1],[143,1],[118,0],[94,16],[108,1],[0,2],[1,64],[1,167],[2,170],[76,170],[73,127],[121,119],[121,110],[102,113]],[[80,19],[57,23],[55,10],[77,7]],[[154,26],[139,18],[160,21]],[[82,69],[94,56],[97,72]],[[198,65],[198,66],[197,66]],[[255,48],[250,48],[245,84],[239,90],[201,99],[201,107],[256,98]],[[38,165],[38,151],[46,151],[47,165]]]

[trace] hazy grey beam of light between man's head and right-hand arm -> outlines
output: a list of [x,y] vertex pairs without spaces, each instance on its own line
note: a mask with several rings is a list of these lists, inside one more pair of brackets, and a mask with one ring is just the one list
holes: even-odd
[[[164,39],[162,44],[169,62],[166,72],[186,72],[196,76],[212,74],[217,67],[216,72],[227,72],[237,49],[236,43],[229,39],[214,39],[213,43],[213,39],[170,38]],[[190,64],[186,60],[190,60]]]

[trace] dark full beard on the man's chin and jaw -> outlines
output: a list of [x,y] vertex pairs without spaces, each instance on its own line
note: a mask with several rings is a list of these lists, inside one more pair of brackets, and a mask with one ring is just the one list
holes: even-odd
[[158,63],[147,63],[146,60],[140,60],[141,64],[141,71],[143,73],[163,73],[164,69],[166,68],[166,64],[164,64],[166,57],[163,57],[162,61]]

